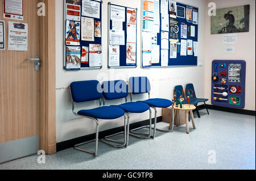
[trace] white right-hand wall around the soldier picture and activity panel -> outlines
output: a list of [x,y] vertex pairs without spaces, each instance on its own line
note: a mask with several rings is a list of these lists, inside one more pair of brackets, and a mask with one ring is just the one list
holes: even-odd
[[223,35],[210,35],[210,16],[205,14],[205,96],[211,99],[213,60],[245,60],[245,110],[255,111],[255,0],[209,0],[208,2],[216,3],[217,9],[250,5],[250,32],[237,33],[238,40],[234,45],[236,52],[224,53]]

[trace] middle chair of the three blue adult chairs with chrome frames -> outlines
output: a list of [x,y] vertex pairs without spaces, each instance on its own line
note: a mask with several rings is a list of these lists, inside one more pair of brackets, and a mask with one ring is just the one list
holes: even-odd
[[[143,113],[146,111],[150,112],[150,126],[151,126],[151,109],[147,104],[138,103],[138,102],[127,102],[127,96],[129,95],[128,86],[125,81],[106,81],[102,83],[102,89],[104,90],[104,106],[105,106],[105,99],[106,100],[116,100],[116,99],[123,99],[125,98],[124,104],[120,105],[113,105],[113,107],[121,108],[125,111],[127,115],[127,141],[126,146],[129,145],[129,129],[130,129],[130,113]],[[123,134],[125,132],[119,132],[110,136],[105,137],[105,140],[110,142],[117,142],[115,140],[109,139],[109,137],[116,136],[118,134]],[[150,138],[151,137],[151,130],[149,134],[146,134],[140,138]],[[104,141],[104,140],[101,140]],[[109,144],[108,142],[106,142]],[[111,144],[110,144],[111,145]],[[113,146],[113,145],[112,145]]]

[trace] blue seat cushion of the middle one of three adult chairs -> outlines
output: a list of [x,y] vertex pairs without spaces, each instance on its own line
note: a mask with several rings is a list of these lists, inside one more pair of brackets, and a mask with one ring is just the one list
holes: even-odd
[[130,113],[142,113],[150,109],[150,106],[148,106],[148,104],[138,103],[138,102],[130,102],[130,103],[125,103],[121,105],[116,105],[113,107],[119,107],[125,112],[130,112]]

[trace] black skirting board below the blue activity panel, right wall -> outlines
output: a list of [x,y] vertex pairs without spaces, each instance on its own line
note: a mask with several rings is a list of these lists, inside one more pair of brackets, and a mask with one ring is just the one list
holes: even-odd
[[[224,111],[224,112],[239,113],[241,115],[255,116],[255,111],[250,111],[250,110],[242,110],[242,109],[222,107],[222,106],[213,106],[209,104],[207,104],[205,108],[208,108],[208,110],[217,110],[217,111]],[[204,110],[204,105],[198,106],[198,109]]]

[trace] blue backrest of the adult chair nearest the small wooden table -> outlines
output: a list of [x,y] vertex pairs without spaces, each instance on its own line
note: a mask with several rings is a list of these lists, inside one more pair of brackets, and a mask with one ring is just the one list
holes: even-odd
[[129,85],[132,94],[144,94],[151,91],[150,81],[147,77],[131,77]]

